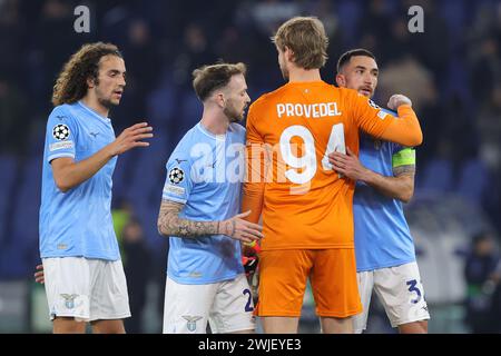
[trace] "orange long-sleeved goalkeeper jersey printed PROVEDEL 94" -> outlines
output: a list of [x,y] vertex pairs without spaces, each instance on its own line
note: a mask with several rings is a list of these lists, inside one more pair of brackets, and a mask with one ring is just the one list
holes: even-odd
[[289,82],[257,99],[247,116],[242,211],[252,210],[252,221],[263,214],[262,249],[353,248],[354,182],[332,170],[327,155],[345,146],[358,154],[358,129],[421,144],[411,107],[399,116],[324,81]]

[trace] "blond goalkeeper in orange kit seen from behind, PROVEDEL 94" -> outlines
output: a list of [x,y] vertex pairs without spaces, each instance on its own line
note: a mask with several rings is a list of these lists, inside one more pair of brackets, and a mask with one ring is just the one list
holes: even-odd
[[332,169],[328,154],[345,146],[357,154],[358,129],[418,146],[421,128],[405,97],[390,98],[396,119],[355,90],[322,81],[327,37],[316,18],[286,21],[273,42],[288,82],[257,99],[247,116],[243,211],[252,210],[253,222],[263,214],[264,234],[257,314],[265,333],[296,333],[310,278],[323,332],[352,333],[351,317],[362,312],[354,182]]

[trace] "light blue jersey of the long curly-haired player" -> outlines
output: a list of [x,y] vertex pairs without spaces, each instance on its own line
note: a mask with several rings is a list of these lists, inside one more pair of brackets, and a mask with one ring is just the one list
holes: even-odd
[[56,186],[51,161],[71,157],[81,161],[115,140],[111,121],[82,102],[56,107],[47,122],[40,206],[40,255],[120,259],[111,219],[111,175],[117,158],[96,175],[62,192]]

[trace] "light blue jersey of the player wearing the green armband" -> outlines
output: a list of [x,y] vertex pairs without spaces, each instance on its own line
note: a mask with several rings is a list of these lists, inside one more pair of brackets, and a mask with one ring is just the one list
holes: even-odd
[[[396,112],[385,110],[393,116]],[[393,177],[393,167],[415,165],[415,152],[390,141],[361,132],[362,165]],[[356,270],[394,267],[415,260],[414,241],[403,214],[402,202],[389,198],[362,181],[356,182],[353,199]]]

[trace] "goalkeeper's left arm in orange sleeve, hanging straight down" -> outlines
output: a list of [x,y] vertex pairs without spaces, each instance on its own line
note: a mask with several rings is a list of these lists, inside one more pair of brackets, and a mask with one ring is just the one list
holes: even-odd
[[267,154],[264,140],[254,126],[254,106],[247,115],[246,127],[246,167],[247,177],[244,182],[242,211],[250,211],[246,220],[257,224],[263,210]]

